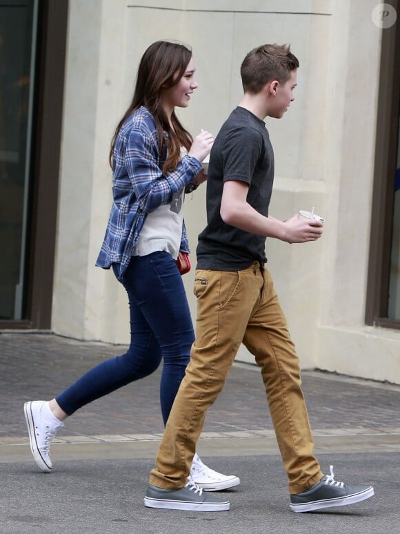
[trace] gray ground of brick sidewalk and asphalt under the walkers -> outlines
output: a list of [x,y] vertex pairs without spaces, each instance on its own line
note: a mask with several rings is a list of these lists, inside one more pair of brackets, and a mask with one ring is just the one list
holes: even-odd
[[23,403],[50,399],[125,347],[48,334],[0,334],[0,533],[397,532],[400,525],[400,387],[303,373],[315,450],[328,472],[373,484],[366,502],[321,513],[290,512],[286,475],[259,369],[235,364],[208,412],[203,460],[241,485],[220,513],[145,508],[148,473],[163,432],[159,372],[79,410],[52,445],[43,474],[28,446]]

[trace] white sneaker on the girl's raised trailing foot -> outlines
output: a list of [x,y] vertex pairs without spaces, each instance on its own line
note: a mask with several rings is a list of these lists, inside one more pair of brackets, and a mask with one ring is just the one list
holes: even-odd
[[57,430],[64,426],[64,423],[48,421],[43,419],[42,410],[46,401],[29,401],[23,406],[26,424],[28,426],[30,450],[39,468],[44,473],[49,473],[52,469],[49,448]]

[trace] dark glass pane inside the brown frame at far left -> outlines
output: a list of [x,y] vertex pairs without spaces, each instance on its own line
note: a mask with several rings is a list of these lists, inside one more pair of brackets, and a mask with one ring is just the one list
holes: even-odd
[[23,318],[37,0],[0,0],[0,320]]

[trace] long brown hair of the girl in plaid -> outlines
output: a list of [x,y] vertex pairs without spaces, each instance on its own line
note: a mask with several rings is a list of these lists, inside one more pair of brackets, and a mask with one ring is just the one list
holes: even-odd
[[[163,173],[174,171],[177,168],[181,158],[181,146],[185,146],[189,150],[192,136],[183,128],[174,111],[171,116],[173,126],[171,128],[168,117],[163,110],[161,91],[169,89],[179,82],[190,59],[192,59],[192,50],[184,44],[157,41],[148,47],[139,64],[132,102],[119,121],[112,137],[109,155],[111,168],[118,133],[129,115],[140,106],[145,106],[156,121],[159,150],[161,151],[163,143],[167,146],[168,158],[163,164]],[[168,133],[167,138],[164,132]]]

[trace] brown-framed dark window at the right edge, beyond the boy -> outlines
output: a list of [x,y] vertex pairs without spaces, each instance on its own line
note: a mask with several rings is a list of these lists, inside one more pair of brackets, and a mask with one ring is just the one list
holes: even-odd
[[366,323],[400,329],[400,30],[382,30]]

